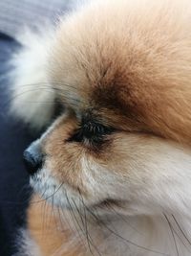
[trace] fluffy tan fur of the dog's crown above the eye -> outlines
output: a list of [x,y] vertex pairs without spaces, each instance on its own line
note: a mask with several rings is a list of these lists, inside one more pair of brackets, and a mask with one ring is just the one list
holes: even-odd
[[189,1],[97,1],[60,24],[51,80],[117,128],[187,143],[190,21]]

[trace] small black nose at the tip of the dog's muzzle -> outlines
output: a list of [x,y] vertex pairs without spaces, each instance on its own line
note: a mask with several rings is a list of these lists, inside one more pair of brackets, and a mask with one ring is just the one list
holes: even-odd
[[42,155],[24,151],[23,160],[25,167],[30,175],[34,175],[42,167]]

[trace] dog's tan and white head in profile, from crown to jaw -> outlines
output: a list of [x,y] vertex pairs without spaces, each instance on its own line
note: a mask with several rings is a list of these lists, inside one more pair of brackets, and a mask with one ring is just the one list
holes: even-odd
[[32,187],[62,207],[178,210],[191,178],[187,25],[122,2],[59,25],[47,73],[65,111],[25,151]]

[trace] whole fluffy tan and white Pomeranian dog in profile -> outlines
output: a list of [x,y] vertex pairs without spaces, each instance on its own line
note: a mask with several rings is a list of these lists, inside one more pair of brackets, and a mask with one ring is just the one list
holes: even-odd
[[50,128],[18,255],[191,255],[190,0],[93,0],[20,40],[11,111]]

